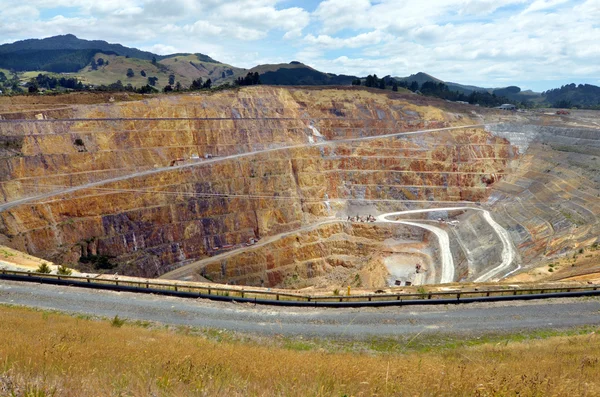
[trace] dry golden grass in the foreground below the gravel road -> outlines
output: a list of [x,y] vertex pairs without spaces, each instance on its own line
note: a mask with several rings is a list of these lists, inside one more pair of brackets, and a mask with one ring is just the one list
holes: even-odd
[[0,396],[600,395],[594,332],[394,353],[218,335],[0,306]]

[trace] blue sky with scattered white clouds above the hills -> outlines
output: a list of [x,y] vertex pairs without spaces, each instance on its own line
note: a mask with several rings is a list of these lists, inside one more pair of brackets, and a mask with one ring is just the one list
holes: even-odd
[[0,0],[0,43],[67,33],[244,68],[600,85],[600,0]]

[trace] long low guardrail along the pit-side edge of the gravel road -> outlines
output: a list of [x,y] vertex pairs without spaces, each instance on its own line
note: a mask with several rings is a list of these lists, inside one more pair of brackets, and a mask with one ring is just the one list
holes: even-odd
[[81,276],[66,276],[0,270],[0,279],[75,286],[92,289],[151,293],[186,298],[205,298],[218,301],[250,302],[280,306],[361,307],[395,305],[456,304],[484,301],[530,300],[557,297],[600,296],[600,285],[544,288],[504,288],[471,291],[423,291],[419,293],[360,294],[360,295],[303,295],[252,288],[231,288],[160,283]]

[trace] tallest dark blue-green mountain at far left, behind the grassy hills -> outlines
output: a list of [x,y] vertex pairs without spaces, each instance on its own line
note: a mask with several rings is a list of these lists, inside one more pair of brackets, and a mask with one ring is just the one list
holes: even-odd
[[[103,40],[83,40],[67,34],[0,45],[0,67],[16,71],[76,72],[89,64],[98,52],[148,61],[160,61],[175,55],[191,55],[158,55],[121,44],[110,44]],[[196,56],[204,62],[219,63],[204,54]]]

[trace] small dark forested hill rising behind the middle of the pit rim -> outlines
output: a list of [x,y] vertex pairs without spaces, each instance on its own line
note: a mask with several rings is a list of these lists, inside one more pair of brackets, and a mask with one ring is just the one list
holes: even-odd
[[355,76],[320,72],[301,62],[258,65],[247,72],[258,72],[262,84],[271,85],[350,85]]

